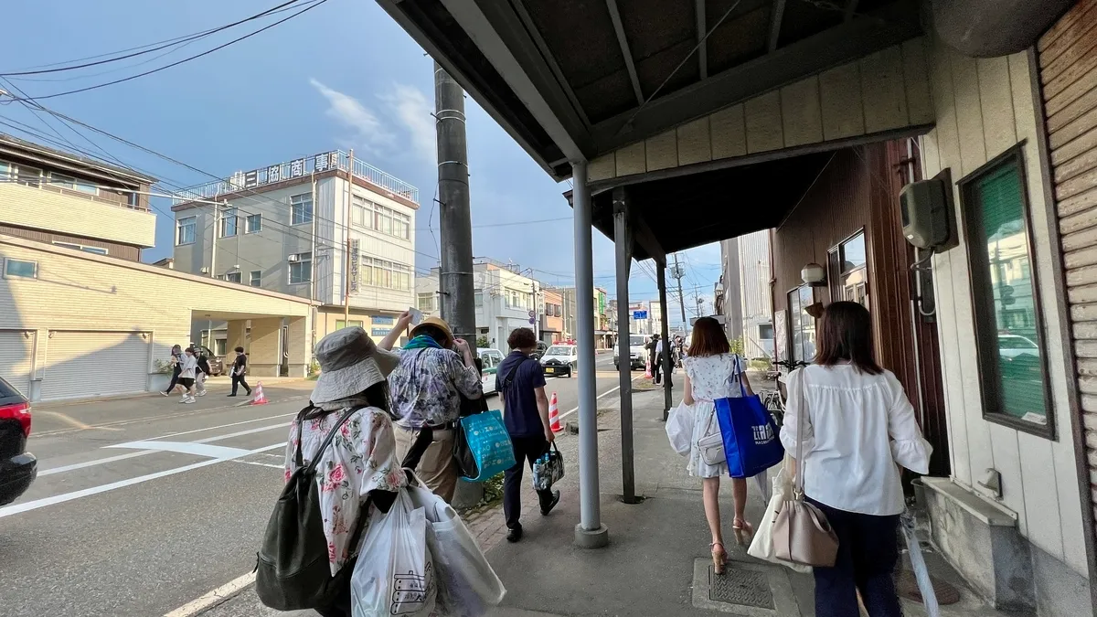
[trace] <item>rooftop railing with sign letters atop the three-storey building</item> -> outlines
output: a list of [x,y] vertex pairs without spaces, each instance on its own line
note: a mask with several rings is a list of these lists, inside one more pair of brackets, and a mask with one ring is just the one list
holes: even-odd
[[[260,169],[252,169],[251,171],[237,171],[225,180],[214,180],[184,189],[177,193],[174,202],[182,203],[197,199],[215,199],[220,195],[248,191],[265,184],[273,184],[294,178],[305,178],[314,172],[320,173],[332,169],[347,171],[349,167],[350,155],[347,153],[342,150],[321,153],[316,156],[297,158]],[[377,169],[362,159],[354,159],[354,169],[351,172],[355,178],[361,178],[397,197],[419,203],[419,189]]]

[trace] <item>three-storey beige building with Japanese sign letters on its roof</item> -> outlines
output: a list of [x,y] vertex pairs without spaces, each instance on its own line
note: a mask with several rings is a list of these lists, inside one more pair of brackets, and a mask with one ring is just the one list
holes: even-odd
[[238,171],[172,206],[174,268],[316,301],[314,340],[380,337],[417,302],[418,209],[418,189],[340,150]]

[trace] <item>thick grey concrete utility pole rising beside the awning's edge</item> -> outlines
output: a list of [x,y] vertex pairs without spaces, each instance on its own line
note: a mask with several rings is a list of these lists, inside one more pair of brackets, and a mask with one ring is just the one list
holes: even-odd
[[[476,357],[476,305],[473,295],[473,228],[468,205],[468,148],[465,139],[465,93],[434,63],[434,126],[438,134],[438,212],[442,235],[442,318],[453,335],[468,343]],[[486,299],[485,299],[486,301]],[[473,506],[484,495],[479,483],[457,482],[455,506]]]

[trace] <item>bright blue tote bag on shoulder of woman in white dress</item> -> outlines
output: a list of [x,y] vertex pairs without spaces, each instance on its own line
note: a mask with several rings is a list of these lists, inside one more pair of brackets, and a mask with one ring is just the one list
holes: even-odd
[[742,375],[743,369],[739,368],[735,377],[742,396],[714,402],[716,420],[724,438],[727,473],[732,478],[758,475],[784,459],[777,424],[757,395],[747,396]]

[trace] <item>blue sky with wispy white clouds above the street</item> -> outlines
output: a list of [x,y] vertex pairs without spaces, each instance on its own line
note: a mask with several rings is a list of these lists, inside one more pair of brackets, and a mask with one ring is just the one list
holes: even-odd
[[[39,0],[4,8],[0,72],[113,52],[216,27],[278,4],[275,0],[147,2]],[[285,16],[282,13],[278,18]],[[256,23],[270,23],[273,20]],[[32,97],[117,79],[181,59],[240,36],[239,26],[139,67],[127,63],[30,76],[68,81],[15,81]],[[162,52],[161,52],[162,53]],[[128,60],[145,61],[156,54]],[[90,75],[105,70],[113,72]],[[75,75],[90,75],[71,79]],[[373,1],[330,0],[303,15],[203,58],[110,86],[55,99],[47,108],[126,137],[203,171],[228,176],[333,148],[355,156],[419,188],[416,266],[437,265],[438,211],[431,207],[437,181],[432,61]],[[472,99],[468,160],[473,251],[479,257],[535,268],[550,284],[570,284],[570,220],[477,227],[477,225],[567,218],[572,214],[557,184]],[[30,124],[56,135],[18,103],[0,106],[0,121]],[[53,127],[82,148],[88,142],[57,121]],[[18,136],[25,134],[0,126]],[[110,139],[89,135],[126,165],[181,186],[210,178]],[[35,137],[29,137],[35,138]],[[98,152],[98,150],[95,150]],[[102,153],[99,153],[102,154]],[[167,211],[167,202],[161,201]],[[428,223],[428,217],[430,223]],[[159,215],[157,246],[146,260],[172,250],[172,223]],[[700,288],[711,311],[712,284],[720,276],[715,245],[686,254],[686,288]],[[633,271],[636,272],[635,266]],[[613,245],[595,233],[596,284],[615,295]],[[564,276],[556,276],[564,274]],[[634,273],[630,296],[656,298],[655,282]],[[686,290],[689,311],[693,291]],[[678,311],[674,311],[677,314]]]

